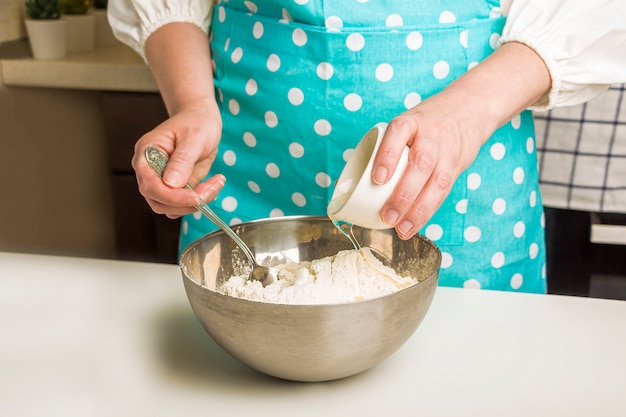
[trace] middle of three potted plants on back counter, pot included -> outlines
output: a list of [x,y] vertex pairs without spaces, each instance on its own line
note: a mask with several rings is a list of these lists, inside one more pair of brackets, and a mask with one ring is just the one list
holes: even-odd
[[67,52],[88,52],[96,45],[96,19],[92,0],[60,0],[61,14],[67,21]]

